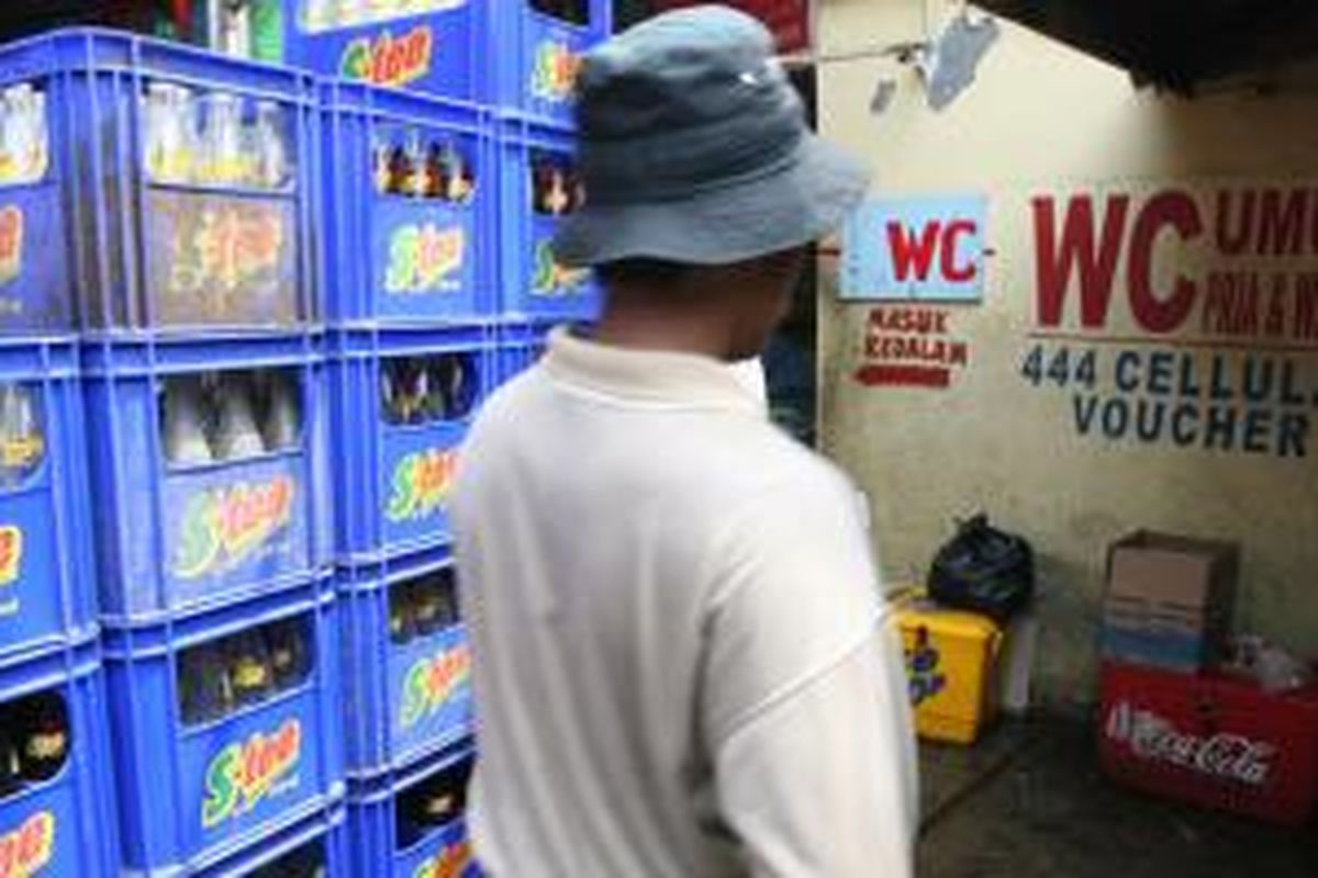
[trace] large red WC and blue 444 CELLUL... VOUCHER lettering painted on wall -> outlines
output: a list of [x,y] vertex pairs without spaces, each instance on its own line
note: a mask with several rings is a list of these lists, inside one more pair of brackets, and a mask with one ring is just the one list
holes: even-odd
[[1224,186],[1032,204],[1028,386],[1083,438],[1309,454],[1318,190]]

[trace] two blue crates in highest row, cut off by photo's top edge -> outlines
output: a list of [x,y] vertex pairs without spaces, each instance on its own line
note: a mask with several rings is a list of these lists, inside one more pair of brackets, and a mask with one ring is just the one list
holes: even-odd
[[297,0],[289,59],[318,72],[571,122],[612,0]]

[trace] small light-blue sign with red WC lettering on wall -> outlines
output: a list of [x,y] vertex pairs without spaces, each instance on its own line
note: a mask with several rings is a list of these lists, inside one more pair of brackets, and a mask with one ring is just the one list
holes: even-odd
[[878,199],[842,229],[844,301],[979,301],[987,199]]

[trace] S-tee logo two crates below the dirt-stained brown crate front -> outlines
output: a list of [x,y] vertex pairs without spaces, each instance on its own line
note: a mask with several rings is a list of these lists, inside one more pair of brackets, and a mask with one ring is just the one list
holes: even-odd
[[286,720],[273,735],[257,732],[220,750],[206,770],[202,825],[211,829],[248,813],[295,781],[302,758],[302,723]]

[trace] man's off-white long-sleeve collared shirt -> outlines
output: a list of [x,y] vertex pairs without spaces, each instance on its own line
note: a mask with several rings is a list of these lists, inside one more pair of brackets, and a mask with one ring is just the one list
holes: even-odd
[[902,656],[854,491],[712,359],[559,332],[453,513],[494,878],[904,878]]

